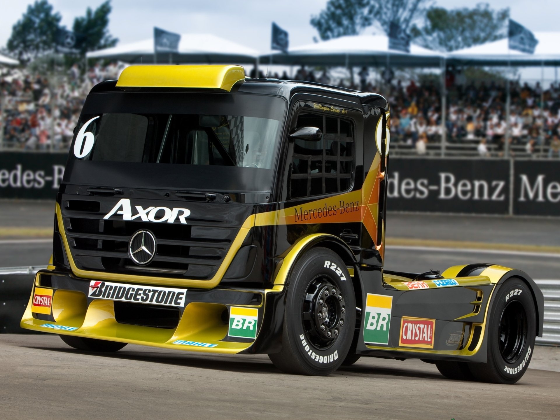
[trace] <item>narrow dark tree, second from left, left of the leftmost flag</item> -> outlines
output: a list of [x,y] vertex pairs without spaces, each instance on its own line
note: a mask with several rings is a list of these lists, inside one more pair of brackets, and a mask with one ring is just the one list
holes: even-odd
[[110,0],[107,0],[97,7],[95,11],[88,7],[86,16],[74,19],[72,30],[78,34],[81,40],[78,48],[82,55],[85,55],[88,51],[109,48],[118,43],[119,40],[113,38],[107,29],[109,13],[111,13],[111,3]]

